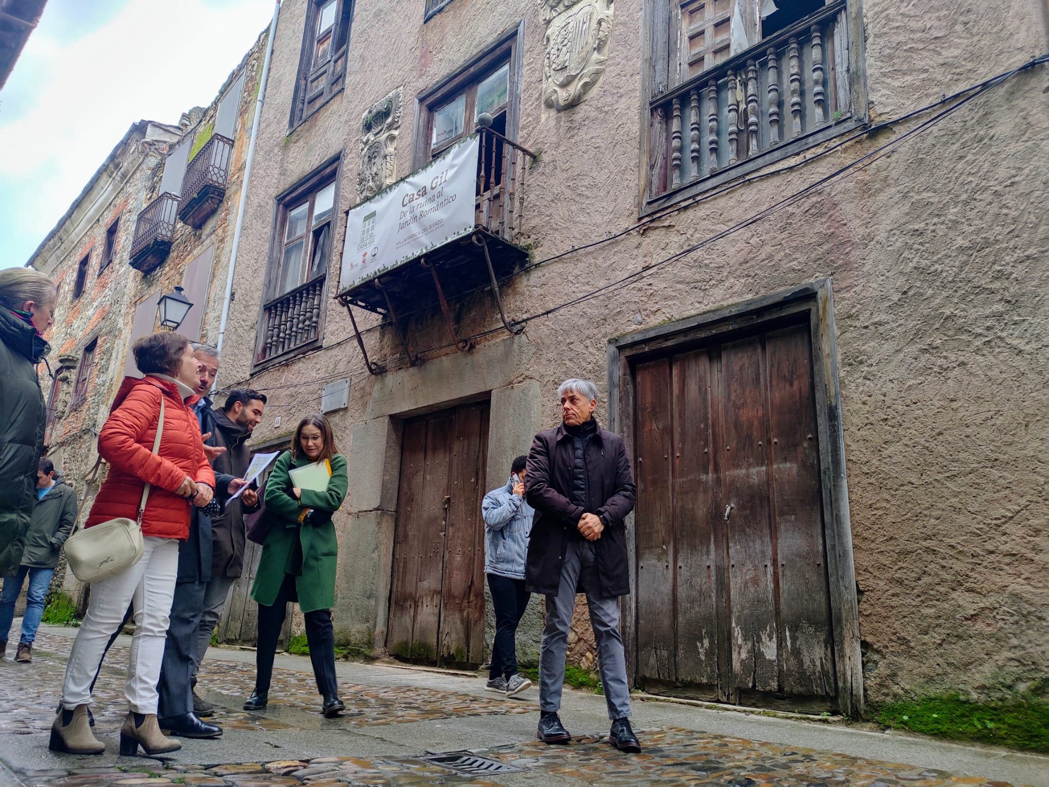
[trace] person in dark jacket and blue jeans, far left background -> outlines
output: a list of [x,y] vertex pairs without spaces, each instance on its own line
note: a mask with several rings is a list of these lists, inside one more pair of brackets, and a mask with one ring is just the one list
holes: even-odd
[[18,641],[15,661],[33,661],[33,641],[44,614],[44,599],[51,584],[51,576],[59,565],[62,545],[77,523],[77,493],[72,487],[55,478],[55,465],[42,459],[37,466],[37,505],[33,509],[29,530],[25,535],[22,565],[13,576],[3,580],[0,594],[0,658],[7,650],[7,635],[15,617],[15,601],[22,592],[25,578],[29,590],[25,594],[25,615],[22,617],[22,636]]

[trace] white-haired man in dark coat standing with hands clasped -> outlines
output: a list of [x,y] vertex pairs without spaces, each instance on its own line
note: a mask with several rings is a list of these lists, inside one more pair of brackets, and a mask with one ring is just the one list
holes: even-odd
[[630,592],[623,519],[637,487],[618,434],[594,418],[597,386],[565,380],[558,388],[562,423],[535,435],[524,494],[535,509],[524,575],[528,590],[547,596],[539,651],[539,728],[545,743],[568,743],[561,724],[564,656],[576,593],[586,594],[613,746],[641,751],[630,728],[630,689],[619,634],[619,597]]

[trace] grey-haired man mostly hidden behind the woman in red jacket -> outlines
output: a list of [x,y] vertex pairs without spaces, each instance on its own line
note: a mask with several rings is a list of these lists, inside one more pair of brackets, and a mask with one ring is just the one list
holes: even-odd
[[[224,447],[217,445],[216,413],[208,397],[218,374],[218,350],[210,344],[199,342],[193,342],[191,347],[197,362],[193,384],[193,392],[197,399],[192,409],[200,428],[205,453],[214,463],[226,452]],[[216,473],[219,499],[231,481],[231,477],[223,478]],[[156,687],[159,695],[157,723],[165,733],[180,738],[218,738],[222,735],[220,726],[200,719],[200,715],[211,716],[214,706],[195,696],[192,682],[197,629],[200,625],[205,594],[212,578],[211,563],[212,517],[194,506],[190,516],[189,537],[178,546],[178,579],[171,602],[168,638],[164,643],[160,681]]]

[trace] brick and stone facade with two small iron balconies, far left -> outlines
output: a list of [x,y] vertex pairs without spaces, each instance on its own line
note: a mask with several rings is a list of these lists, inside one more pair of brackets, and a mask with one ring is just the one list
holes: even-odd
[[[183,286],[194,306],[179,331],[193,341],[217,337],[266,38],[210,106],[185,112],[177,126],[132,125],[27,262],[59,286],[46,335],[49,368],[41,367],[49,413],[45,448],[77,490],[81,522],[106,473],[99,430],[121,381],[137,374],[130,348],[157,326],[160,294]],[[216,123],[228,136],[209,145]],[[210,170],[201,186],[187,172],[205,159]],[[196,229],[177,217],[184,183],[183,208],[201,194],[212,201],[197,199],[190,220],[208,215]],[[71,573],[57,572],[55,583],[83,603],[85,589]]]

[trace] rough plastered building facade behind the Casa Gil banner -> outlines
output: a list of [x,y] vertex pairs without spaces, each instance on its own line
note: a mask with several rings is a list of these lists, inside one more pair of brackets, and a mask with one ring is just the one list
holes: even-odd
[[[469,498],[580,376],[636,462],[639,685],[858,714],[1044,680],[1046,29],[1030,0],[285,2],[220,383],[267,391],[271,445],[329,410],[350,460],[341,636],[432,657],[423,607],[443,604],[441,638],[476,618],[476,588],[426,570],[480,581],[477,543],[451,545],[455,492],[431,544],[399,531],[405,474],[441,472],[416,443],[461,423],[453,442],[484,442]],[[495,260],[528,255],[500,273],[511,329],[487,274],[448,269],[453,336],[416,281],[432,305],[409,292],[399,319],[348,306],[359,342],[335,300],[346,211],[475,130],[492,80],[493,128],[529,152]],[[333,199],[335,229],[295,240],[292,214]]]

